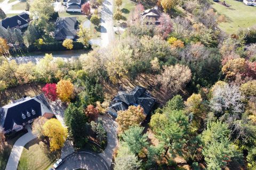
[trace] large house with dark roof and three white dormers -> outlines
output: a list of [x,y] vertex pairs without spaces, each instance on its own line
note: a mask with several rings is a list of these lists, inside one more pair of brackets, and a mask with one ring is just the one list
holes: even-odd
[[25,97],[0,108],[0,125],[4,133],[20,131],[27,123],[39,116],[52,118],[55,115],[44,94]]

